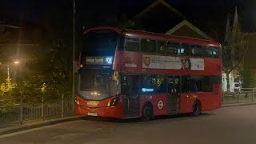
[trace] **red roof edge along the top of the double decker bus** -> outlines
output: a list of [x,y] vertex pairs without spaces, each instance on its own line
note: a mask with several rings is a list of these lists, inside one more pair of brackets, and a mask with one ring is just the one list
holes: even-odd
[[118,34],[125,34],[126,36],[134,37],[134,38],[150,38],[150,39],[156,39],[156,40],[162,40],[162,41],[184,42],[184,43],[194,44],[194,45],[214,46],[214,47],[221,48],[220,43],[210,41],[210,40],[158,34],[158,33],[152,33],[152,32],[143,31],[143,30],[130,30],[130,29],[120,29],[112,26],[99,26],[99,27],[94,27],[86,30],[84,34],[88,33],[90,30],[114,30]]

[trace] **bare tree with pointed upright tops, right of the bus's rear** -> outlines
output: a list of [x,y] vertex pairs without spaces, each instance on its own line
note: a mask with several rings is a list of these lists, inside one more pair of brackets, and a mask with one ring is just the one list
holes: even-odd
[[[226,21],[226,35],[222,44],[222,70],[226,74],[226,88],[230,90],[230,74],[242,70],[243,59],[248,49],[248,42],[240,30],[238,9],[234,12],[234,23],[230,28],[230,19]],[[241,73],[240,73],[241,75]]]

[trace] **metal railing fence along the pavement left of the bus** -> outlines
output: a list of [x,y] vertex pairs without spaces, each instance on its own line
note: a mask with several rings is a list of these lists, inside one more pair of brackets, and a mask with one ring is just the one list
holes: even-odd
[[[0,100],[0,126],[28,121],[44,121],[50,118],[63,118],[74,114],[74,99],[59,98],[45,102],[18,102],[12,99]],[[1,128],[1,127],[0,127]]]

